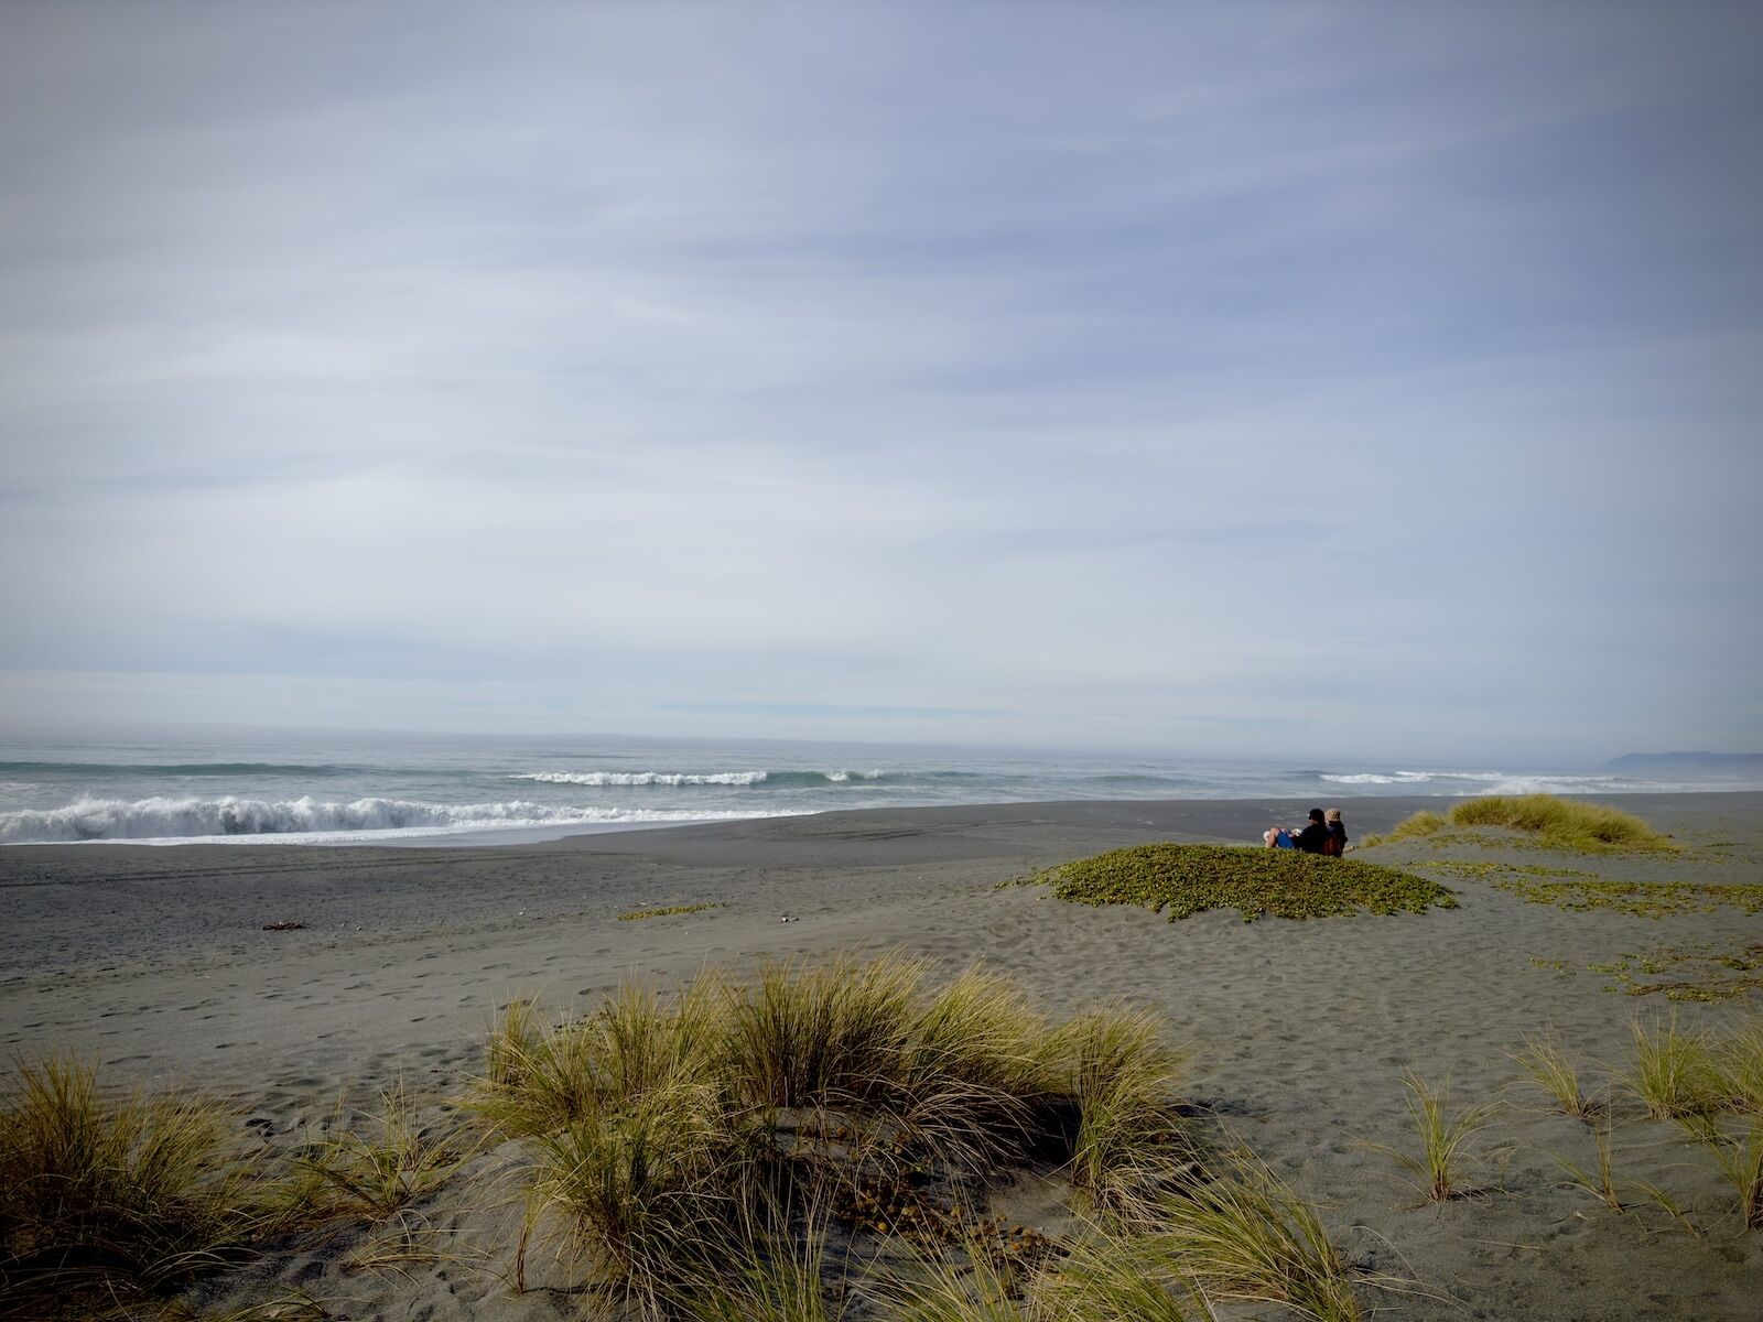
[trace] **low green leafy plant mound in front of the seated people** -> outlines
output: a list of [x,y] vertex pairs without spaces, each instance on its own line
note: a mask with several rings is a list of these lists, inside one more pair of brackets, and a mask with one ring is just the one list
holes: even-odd
[[1079,904],[1167,910],[1171,922],[1202,910],[1236,910],[1253,922],[1264,913],[1328,918],[1456,908],[1449,887],[1395,867],[1236,844],[1139,844],[1051,867],[1037,881]]

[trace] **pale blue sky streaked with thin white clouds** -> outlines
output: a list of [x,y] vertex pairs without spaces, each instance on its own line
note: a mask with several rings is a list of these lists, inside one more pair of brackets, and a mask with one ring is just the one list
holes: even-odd
[[1763,749],[1756,4],[0,5],[0,726]]

